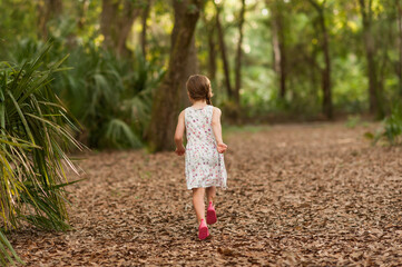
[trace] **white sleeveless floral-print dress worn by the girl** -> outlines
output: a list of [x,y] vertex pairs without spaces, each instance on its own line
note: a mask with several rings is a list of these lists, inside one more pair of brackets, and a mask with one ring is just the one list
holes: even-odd
[[185,109],[187,189],[212,186],[226,189],[224,155],[216,149],[212,128],[213,110],[210,105],[202,109]]

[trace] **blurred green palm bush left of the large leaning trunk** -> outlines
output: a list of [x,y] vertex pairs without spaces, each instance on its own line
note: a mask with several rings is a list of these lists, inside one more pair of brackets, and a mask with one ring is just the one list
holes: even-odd
[[139,52],[129,62],[96,47],[76,49],[57,85],[95,148],[138,148],[150,116],[153,90],[164,71]]

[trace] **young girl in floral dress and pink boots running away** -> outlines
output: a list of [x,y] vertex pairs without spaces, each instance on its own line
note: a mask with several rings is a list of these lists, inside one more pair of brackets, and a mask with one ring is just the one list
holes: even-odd
[[[188,78],[187,92],[193,106],[178,117],[175,134],[176,154],[186,154],[187,188],[193,189],[193,205],[198,219],[198,237],[209,236],[205,224],[204,196],[209,202],[206,222],[216,222],[214,198],[216,187],[226,188],[224,152],[227,146],[222,140],[220,110],[212,106],[213,96],[209,79],[196,75]],[[187,146],[183,146],[186,129]]]

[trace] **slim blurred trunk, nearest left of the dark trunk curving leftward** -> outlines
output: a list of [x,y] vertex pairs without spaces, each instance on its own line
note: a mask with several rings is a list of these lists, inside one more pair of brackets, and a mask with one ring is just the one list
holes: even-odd
[[280,77],[280,98],[286,95],[286,52],[285,52],[285,30],[283,29],[282,2],[275,0],[271,8],[272,13],[272,37],[274,51],[274,70]]

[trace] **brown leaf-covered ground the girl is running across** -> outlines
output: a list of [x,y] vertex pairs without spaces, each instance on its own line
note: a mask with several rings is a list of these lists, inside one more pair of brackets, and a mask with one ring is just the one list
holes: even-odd
[[372,147],[375,127],[232,130],[208,240],[184,158],[145,151],[87,155],[69,188],[75,229],[10,239],[27,266],[402,265],[402,148]]

